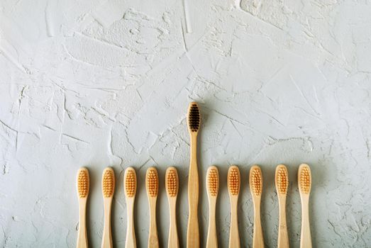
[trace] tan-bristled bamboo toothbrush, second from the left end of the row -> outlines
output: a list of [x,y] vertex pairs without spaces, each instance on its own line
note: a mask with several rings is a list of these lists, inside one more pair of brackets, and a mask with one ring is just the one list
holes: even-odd
[[112,233],[111,233],[111,205],[113,193],[115,192],[115,172],[112,168],[107,167],[103,171],[101,179],[101,189],[104,201],[104,228],[101,241],[101,248],[112,248]]

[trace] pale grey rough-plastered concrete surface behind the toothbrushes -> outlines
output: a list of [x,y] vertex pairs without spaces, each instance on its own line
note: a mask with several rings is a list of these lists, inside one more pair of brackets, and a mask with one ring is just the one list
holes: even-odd
[[[288,225],[299,245],[297,168],[311,165],[315,247],[371,244],[371,2],[109,0],[0,2],[0,244],[74,247],[75,174],[87,166],[89,242],[100,247],[101,172],[117,188],[113,239],[123,247],[123,170],[139,177],[136,234],[148,239],[145,170],[179,169],[178,221],[186,241],[189,101],[199,101],[199,205],[206,242],[204,176],[221,171],[218,236],[228,244],[228,165],[243,177],[239,227],[251,247],[248,170],[264,177],[262,224],[277,242],[275,166],[289,168]],[[158,230],[165,246],[164,184]]]

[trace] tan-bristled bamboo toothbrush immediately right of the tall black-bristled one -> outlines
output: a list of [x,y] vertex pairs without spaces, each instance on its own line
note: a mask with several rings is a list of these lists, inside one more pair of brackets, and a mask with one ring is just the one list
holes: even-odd
[[219,171],[214,166],[209,167],[207,170],[206,188],[209,198],[209,230],[207,232],[206,248],[217,248],[218,237],[216,236],[215,208],[219,191]]

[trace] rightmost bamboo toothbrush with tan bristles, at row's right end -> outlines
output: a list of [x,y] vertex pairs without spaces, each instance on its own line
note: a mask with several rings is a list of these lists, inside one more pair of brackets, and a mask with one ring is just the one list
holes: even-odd
[[311,248],[311,227],[309,225],[309,194],[311,193],[311,168],[300,164],[298,186],[301,199],[300,248]]

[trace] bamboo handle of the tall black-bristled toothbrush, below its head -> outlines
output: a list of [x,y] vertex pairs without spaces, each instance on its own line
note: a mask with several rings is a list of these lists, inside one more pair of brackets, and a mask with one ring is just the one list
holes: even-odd
[[197,136],[191,134],[191,162],[189,165],[188,178],[188,204],[189,217],[187,229],[187,247],[199,247],[199,219],[197,216],[197,208],[199,204],[199,172],[197,171]]

